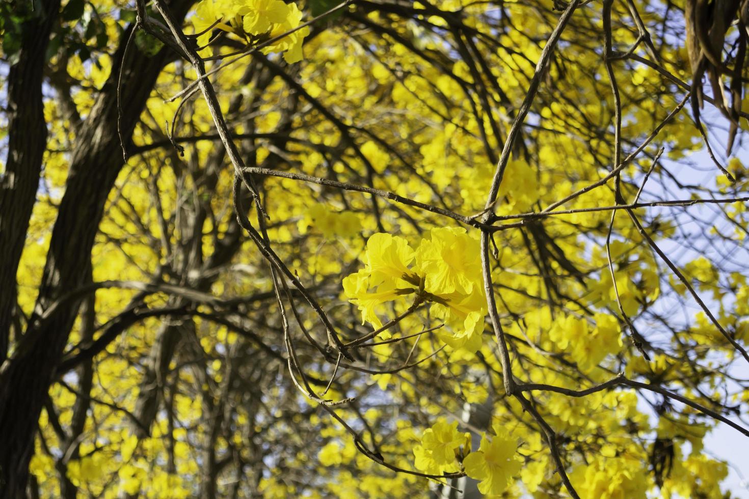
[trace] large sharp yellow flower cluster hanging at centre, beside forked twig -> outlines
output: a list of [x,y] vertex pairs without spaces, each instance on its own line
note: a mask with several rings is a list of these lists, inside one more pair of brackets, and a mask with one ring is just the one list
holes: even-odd
[[366,266],[343,280],[346,298],[359,307],[363,323],[383,327],[383,304],[410,298],[411,306],[430,304],[441,319],[442,339],[454,349],[481,346],[486,298],[479,242],[462,228],[432,229],[414,250],[400,236],[375,233],[367,241]]

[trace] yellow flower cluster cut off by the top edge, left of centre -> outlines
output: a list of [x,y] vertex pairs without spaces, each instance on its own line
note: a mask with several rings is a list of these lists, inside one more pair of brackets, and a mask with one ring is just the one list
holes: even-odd
[[[202,0],[192,17],[195,33],[201,33],[198,37],[201,47],[207,45],[212,28],[236,34],[243,40],[262,42],[297,28],[301,22],[302,12],[297,4],[282,0]],[[284,52],[283,58],[289,64],[301,61],[302,43],[308,34],[309,28],[305,26],[261,52]]]

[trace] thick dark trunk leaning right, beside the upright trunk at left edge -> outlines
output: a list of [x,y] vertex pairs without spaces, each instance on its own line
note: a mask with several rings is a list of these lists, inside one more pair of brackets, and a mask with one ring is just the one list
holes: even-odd
[[[173,1],[172,12],[178,19],[184,19],[190,4],[190,0]],[[163,49],[149,58],[133,43],[125,58],[124,42],[131,30],[132,26],[124,31],[112,64],[112,75],[76,137],[65,194],[52,230],[34,308],[36,313],[31,316],[13,356],[0,369],[0,496],[3,498],[25,495],[37,420],[78,313],[78,304],[58,307],[44,320],[40,320],[39,313],[84,282],[103,207],[123,165],[117,130],[119,68],[124,67],[121,126],[127,140],[157,76],[172,56]],[[40,36],[39,31],[34,36]],[[43,54],[44,50],[41,52]],[[41,69],[38,74],[41,79]],[[43,143],[37,142],[37,147],[43,150]],[[15,275],[14,269],[4,270],[3,275],[6,272]],[[3,301],[6,298],[3,296]],[[7,307],[6,304],[2,306]]]

